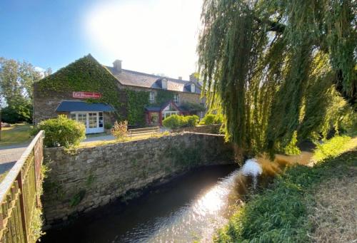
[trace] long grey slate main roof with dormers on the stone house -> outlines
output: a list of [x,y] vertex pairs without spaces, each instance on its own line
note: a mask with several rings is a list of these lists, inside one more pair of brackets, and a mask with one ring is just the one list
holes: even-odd
[[[167,80],[167,90],[168,91],[178,91],[178,92],[188,92],[191,93],[191,81],[184,81],[181,79],[167,78],[156,76],[149,73],[140,73],[136,71],[131,71],[127,69],[121,69],[121,72],[116,71],[115,68],[105,66],[111,74],[124,86],[137,86],[144,88],[161,88],[161,80],[166,78]],[[201,85],[196,84],[195,92],[201,94]]]

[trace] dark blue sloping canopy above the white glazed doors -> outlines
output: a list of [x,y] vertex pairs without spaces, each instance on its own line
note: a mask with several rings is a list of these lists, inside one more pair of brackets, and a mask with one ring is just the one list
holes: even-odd
[[84,101],[62,101],[56,111],[114,111],[111,105],[104,103],[86,103]]

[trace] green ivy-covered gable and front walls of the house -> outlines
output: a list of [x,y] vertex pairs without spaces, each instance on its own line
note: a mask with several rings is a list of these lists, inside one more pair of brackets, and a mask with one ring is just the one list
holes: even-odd
[[[61,100],[74,100],[72,92],[101,93],[100,99],[86,99],[90,103],[108,103],[116,109],[116,120],[128,120],[130,125],[145,125],[145,107],[161,106],[174,100],[177,92],[121,86],[118,80],[90,54],[61,68],[51,76],[36,83],[34,89],[36,123],[56,116]],[[154,91],[155,103],[149,103],[149,93]],[[183,95],[182,93],[180,95]],[[191,94],[185,94],[186,96]],[[198,97],[196,94],[192,94]],[[185,97],[186,97],[185,96]],[[190,96],[191,97],[191,96]],[[186,98],[183,98],[186,100]],[[199,99],[197,98],[197,102]]]

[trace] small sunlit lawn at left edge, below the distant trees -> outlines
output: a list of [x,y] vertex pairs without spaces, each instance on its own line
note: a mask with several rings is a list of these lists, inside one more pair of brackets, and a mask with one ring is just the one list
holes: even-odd
[[31,140],[30,130],[32,126],[28,124],[14,124],[10,128],[1,128],[1,146],[18,145],[28,143]]

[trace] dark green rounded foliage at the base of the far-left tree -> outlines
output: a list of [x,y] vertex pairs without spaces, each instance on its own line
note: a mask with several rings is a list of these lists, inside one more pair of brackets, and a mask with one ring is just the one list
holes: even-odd
[[1,121],[5,123],[32,123],[32,104],[22,97],[12,99],[1,109]]

